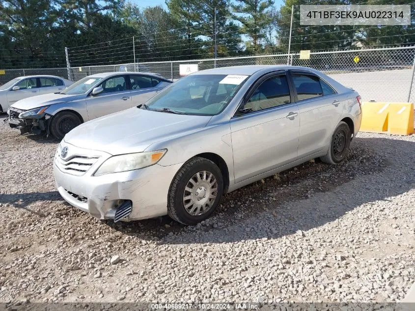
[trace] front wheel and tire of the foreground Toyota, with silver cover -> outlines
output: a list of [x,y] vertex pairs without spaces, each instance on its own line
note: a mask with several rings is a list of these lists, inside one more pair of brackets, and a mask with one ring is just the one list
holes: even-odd
[[167,214],[184,225],[209,218],[223,193],[221,170],[212,161],[194,157],[174,177],[167,198]]

